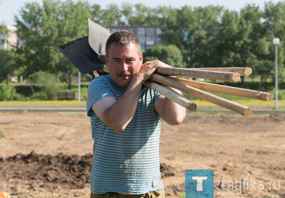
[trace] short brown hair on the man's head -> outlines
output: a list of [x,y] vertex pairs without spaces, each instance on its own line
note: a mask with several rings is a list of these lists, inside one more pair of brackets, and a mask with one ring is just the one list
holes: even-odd
[[113,32],[106,42],[106,56],[109,56],[109,47],[112,43],[115,43],[118,47],[126,47],[130,45],[131,43],[134,43],[137,48],[137,52],[139,56],[141,55],[141,44],[139,42],[139,39],[130,31],[127,30],[120,30]]

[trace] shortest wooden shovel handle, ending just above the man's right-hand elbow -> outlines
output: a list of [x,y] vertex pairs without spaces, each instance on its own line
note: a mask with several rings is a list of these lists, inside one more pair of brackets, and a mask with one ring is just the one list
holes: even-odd
[[168,99],[176,102],[177,104],[185,107],[186,109],[192,111],[192,112],[197,110],[197,105],[194,102],[185,98],[181,94],[178,94],[177,92],[170,89],[169,87],[159,85],[159,84],[152,82],[150,80],[147,80],[145,82],[145,85],[147,87],[153,89],[154,91],[164,95],[166,98],[168,98]]

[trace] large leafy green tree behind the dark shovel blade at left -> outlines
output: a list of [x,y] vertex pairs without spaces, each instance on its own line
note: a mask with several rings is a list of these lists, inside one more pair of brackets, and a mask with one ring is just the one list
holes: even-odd
[[92,18],[88,3],[76,4],[44,0],[26,3],[16,17],[18,36],[24,45],[18,48],[19,64],[24,68],[24,76],[37,71],[72,74],[76,70],[58,51],[58,47],[83,35],[88,35],[88,18]]

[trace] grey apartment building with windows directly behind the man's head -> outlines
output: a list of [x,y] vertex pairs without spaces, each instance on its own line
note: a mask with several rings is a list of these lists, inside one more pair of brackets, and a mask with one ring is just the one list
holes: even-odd
[[107,26],[106,29],[115,32],[119,30],[128,30],[136,35],[140,41],[142,51],[147,50],[154,45],[161,44],[159,35],[162,26],[131,26],[121,22],[118,26]]

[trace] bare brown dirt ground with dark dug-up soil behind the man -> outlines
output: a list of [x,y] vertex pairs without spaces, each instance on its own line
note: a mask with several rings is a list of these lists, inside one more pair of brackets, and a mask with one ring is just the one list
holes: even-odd
[[[185,169],[214,169],[215,197],[285,197],[284,128],[285,115],[190,115],[179,126],[162,121],[166,197],[184,197]],[[90,196],[87,116],[3,113],[0,131],[0,191],[11,197]],[[250,178],[256,190],[250,190]],[[245,189],[230,181],[242,181]]]

